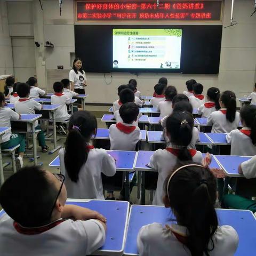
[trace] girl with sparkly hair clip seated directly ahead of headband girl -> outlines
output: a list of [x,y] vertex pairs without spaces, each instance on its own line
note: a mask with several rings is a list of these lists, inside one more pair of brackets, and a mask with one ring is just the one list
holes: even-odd
[[153,205],[163,205],[162,193],[164,181],[177,161],[202,162],[202,153],[188,149],[192,139],[194,119],[188,112],[174,111],[166,121],[167,136],[170,143],[166,149],[158,149],[150,158],[149,166],[158,172],[157,188]]

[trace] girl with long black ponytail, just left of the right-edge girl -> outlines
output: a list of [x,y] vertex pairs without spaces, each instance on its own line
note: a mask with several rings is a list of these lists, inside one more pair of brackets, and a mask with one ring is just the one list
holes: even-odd
[[225,91],[220,95],[220,110],[214,111],[207,119],[207,125],[212,126],[211,132],[229,133],[237,129],[240,118],[236,111],[236,95]]

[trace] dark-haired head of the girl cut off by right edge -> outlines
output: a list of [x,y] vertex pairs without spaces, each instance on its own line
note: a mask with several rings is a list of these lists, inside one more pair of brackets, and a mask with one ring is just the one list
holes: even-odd
[[240,118],[243,126],[251,129],[250,138],[253,145],[256,145],[256,106],[245,105],[240,109]]

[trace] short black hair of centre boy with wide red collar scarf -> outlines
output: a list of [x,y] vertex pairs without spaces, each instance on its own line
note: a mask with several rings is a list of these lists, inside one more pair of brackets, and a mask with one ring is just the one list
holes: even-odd
[[132,123],[138,118],[139,107],[133,102],[127,102],[120,107],[119,114],[124,123]]

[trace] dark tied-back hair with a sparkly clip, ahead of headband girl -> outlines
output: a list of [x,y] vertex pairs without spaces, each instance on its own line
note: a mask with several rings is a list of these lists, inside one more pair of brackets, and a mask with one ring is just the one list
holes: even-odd
[[192,160],[187,147],[192,139],[193,127],[193,115],[187,111],[174,111],[166,120],[166,130],[171,142],[181,147],[178,155],[180,161]]

